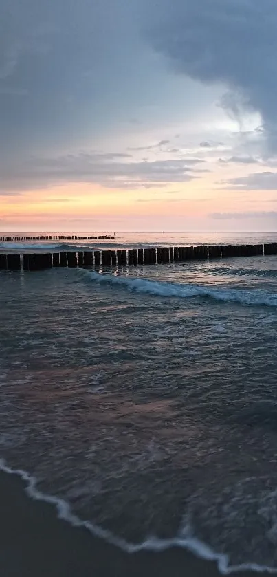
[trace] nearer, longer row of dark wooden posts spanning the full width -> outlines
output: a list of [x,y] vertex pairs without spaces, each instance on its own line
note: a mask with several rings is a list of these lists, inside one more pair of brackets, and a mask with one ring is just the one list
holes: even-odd
[[170,246],[87,252],[0,254],[1,270],[43,270],[52,267],[111,267],[175,261],[277,255],[277,243],[258,245]]

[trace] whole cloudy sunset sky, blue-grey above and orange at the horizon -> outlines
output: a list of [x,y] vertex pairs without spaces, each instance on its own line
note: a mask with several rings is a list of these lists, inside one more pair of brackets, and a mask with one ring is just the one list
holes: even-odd
[[0,0],[0,231],[277,226],[276,0]]

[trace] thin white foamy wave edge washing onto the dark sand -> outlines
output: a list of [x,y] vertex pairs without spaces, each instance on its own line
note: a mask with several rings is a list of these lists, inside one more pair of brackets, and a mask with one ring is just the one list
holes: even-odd
[[257,563],[229,565],[228,555],[214,552],[209,545],[199,541],[197,537],[192,536],[189,527],[183,527],[179,534],[173,538],[162,539],[150,536],[141,543],[129,543],[125,539],[115,536],[109,530],[103,529],[99,525],[94,525],[91,521],[82,521],[82,519],[72,512],[69,503],[64,499],[60,499],[59,497],[38,490],[36,487],[36,477],[30,475],[27,471],[22,469],[12,469],[3,459],[0,459],[0,470],[8,475],[21,477],[25,483],[25,492],[27,495],[35,501],[44,501],[45,503],[54,505],[54,507],[56,507],[58,519],[63,519],[74,527],[85,527],[85,529],[87,529],[93,536],[104,539],[107,543],[119,547],[126,553],[132,554],[140,551],[161,552],[172,547],[180,547],[192,552],[198,558],[207,561],[214,561],[217,563],[219,572],[223,575],[229,575],[238,571],[254,571],[256,573],[266,572],[269,574],[277,573],[277,567],[268,567],[267,565],[263,566],[258,565]]

